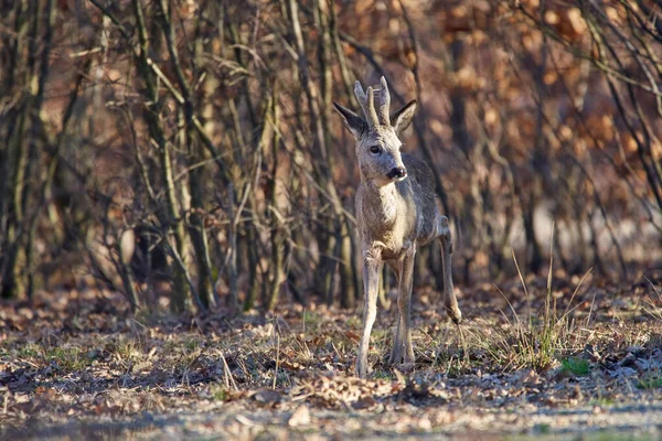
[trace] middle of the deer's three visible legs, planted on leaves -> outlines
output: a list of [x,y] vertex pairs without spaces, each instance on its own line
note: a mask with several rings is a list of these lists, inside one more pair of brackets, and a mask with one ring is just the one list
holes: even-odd
[[414,276],[414,257],[416,250],[407,251],[397,262],[397,326],[393,338],[393,348],[388,363],[414,363],[414,346],[412,345],[412,286]]

